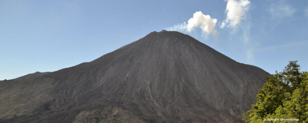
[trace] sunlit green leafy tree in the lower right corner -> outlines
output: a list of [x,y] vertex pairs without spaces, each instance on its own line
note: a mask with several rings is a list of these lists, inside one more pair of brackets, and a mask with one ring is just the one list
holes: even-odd
[[266,76],[253,110],[243,114],[243,121],[288,122],[264,119],[297,118],[308,122],[308,73],[300,72],[299,67],[297,61],[290,61],[282,72]]

